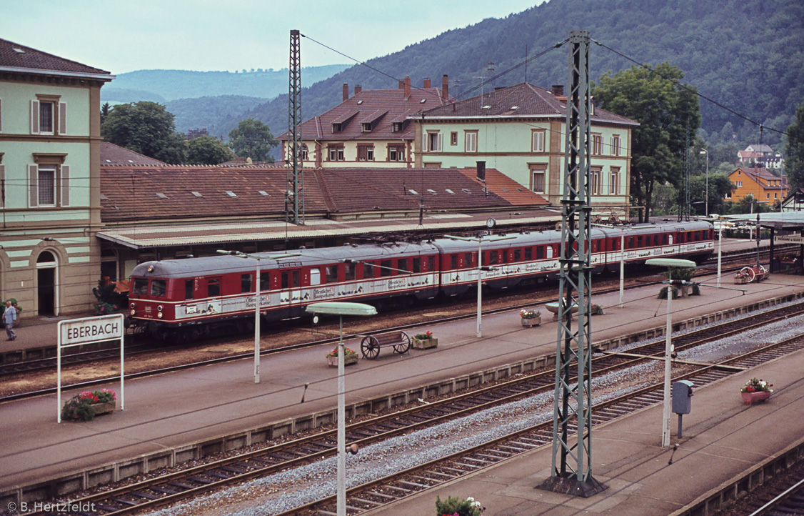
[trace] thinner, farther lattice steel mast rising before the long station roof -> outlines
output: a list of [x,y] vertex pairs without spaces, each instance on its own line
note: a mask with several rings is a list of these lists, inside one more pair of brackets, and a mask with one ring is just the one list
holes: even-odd
[[304,224],[304,167],[301,163],[301,35],[290,31],[288,154],[285,221]]

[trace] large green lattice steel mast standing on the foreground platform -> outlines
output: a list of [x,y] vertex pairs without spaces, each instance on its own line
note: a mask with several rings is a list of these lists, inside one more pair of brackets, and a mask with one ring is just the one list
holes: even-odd
[[[606,489],[592,477],[589,31],[570,31],[569,43],[552,476],[539,488],[589,497]],[[573,305],[578,310],[577,331],[572,329]],[[573,369],[577,382],[572,380]],[[570,441],[573,427],[575,442]]]

